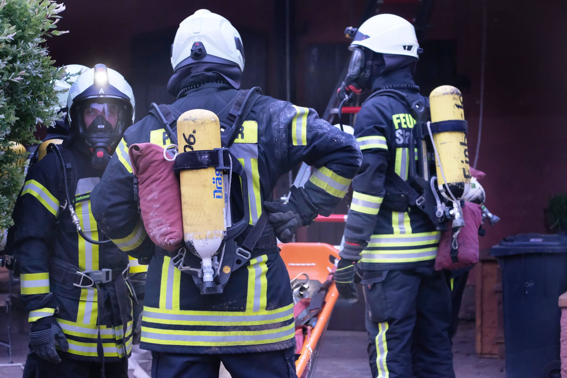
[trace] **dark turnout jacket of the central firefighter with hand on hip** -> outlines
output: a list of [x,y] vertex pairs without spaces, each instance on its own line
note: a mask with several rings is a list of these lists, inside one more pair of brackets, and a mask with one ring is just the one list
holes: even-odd
[[[230,109],[238,92],[226,83],[191,84],[197,88],[171,105],[181,113],[207,109],[219,114]],[[313,109],[257,96],[229,148],[247,173],[250,223],[256,223],[263,202],[272,198],[278,178],[302,161],[315,168],[303,188],[306,200],[318,213],[331,214],[345,196],[361,161],[354,137],[321,120]],[[128,147],[143,142],[159,146],[171,143],[162,122],[152,115],[126,130],[92,196],[94,216],[104,232],[135,257],[149,257],[155,248],[146,235],[151,230],[144,230],[139,220],[128,158]],[[234,189],[235,182],[239,180],[232,180],[231,211],[238,214],[242,213],[243,202],[240,190]],[[289,274],[279,256],[272,227],[266,226],[264,234],[270,235],[272,242],[256,244],[251,260],[232,271],[222,294],[201,295],[191,276],[171,264],[171,255],[155,248],[147,272],[142,348],[219,354],[293,346]],[[200,266],[200,260],[190,253],[186,258],[196,259],[193,266]]]

